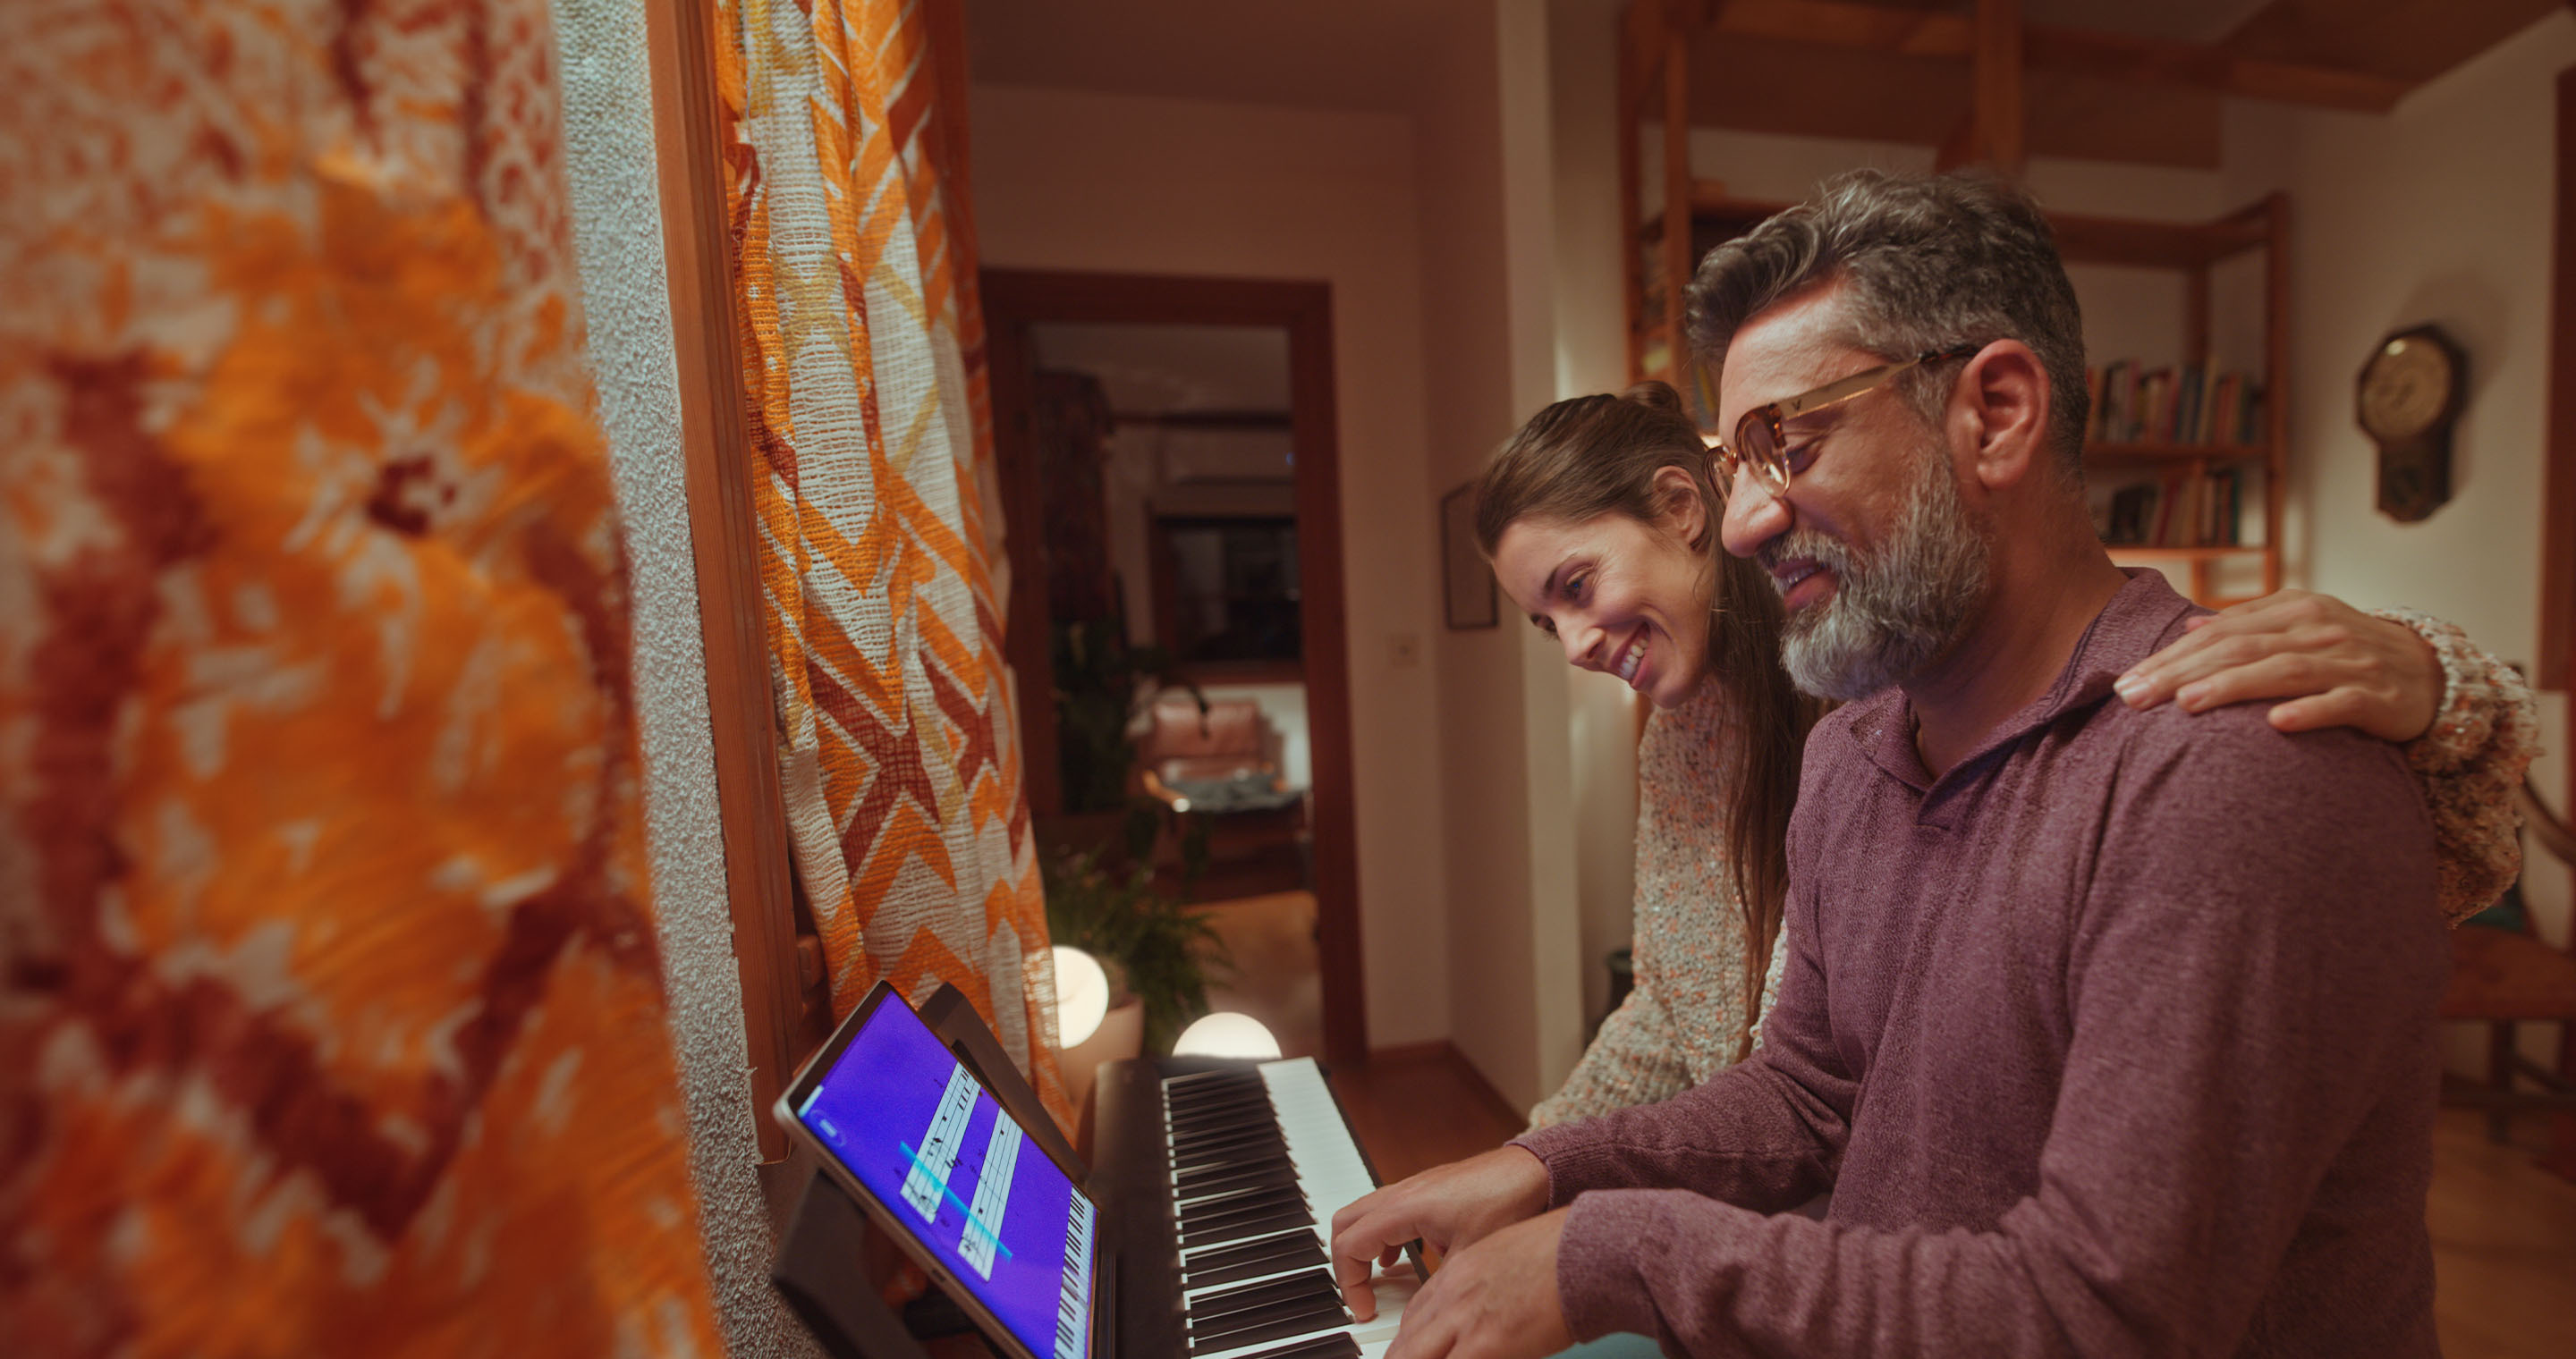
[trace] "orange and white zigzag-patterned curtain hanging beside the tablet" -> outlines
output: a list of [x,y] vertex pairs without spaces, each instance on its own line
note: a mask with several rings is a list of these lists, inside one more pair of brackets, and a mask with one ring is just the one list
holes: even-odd
[[956,983],[1061,1120],[974,250],[938,154],[963,129],[925,10],[719,0],[781,777],[835,1009]]

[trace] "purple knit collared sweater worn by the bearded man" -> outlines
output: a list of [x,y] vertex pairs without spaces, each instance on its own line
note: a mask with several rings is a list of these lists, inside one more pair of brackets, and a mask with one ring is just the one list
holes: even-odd
[[2380,741],[2110,703],[2190,613],[2136,574],[1940,780],[1901,692],[1816,728],[1762,1050],[1520,1140],[1577,1336],[2437,1354],[2432,829]]

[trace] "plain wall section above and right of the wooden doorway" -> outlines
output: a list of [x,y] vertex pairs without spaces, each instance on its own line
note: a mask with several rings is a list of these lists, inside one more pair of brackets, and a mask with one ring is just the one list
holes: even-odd
[[984,265],[1332,283],[1368,1040],[1450,1032],[1437,631],[1406,118],[976,85]]

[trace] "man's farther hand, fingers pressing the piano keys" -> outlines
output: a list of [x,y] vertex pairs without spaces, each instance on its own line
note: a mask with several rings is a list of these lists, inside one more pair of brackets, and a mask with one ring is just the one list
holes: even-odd
[[[1350,1315],[1370,1320],[1378,1315],[1378,1297],[1368,1290],[1370,1264],[1396,1264],[1414,1238],[1440,1253],[1463,1251],[1546,1207],[1548,1166],[1528,1151],[1497,1148],[1432,1166],[1332,1215],[1332,1279],[1342,1284]],[[1556,1259],[1553,1235],[1548,1251]],[[1548,1305],[1556,1305],[1556,1274],[1548,1274]]]

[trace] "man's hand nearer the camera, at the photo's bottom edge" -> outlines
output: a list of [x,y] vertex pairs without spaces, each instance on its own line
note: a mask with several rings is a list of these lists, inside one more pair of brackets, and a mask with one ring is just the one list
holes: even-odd
[[1574,1344],[1556,1300],[1566,1212],[1540,1212],[1458,1251],[1404,1305],[1386,1359],[1538,1359]]

